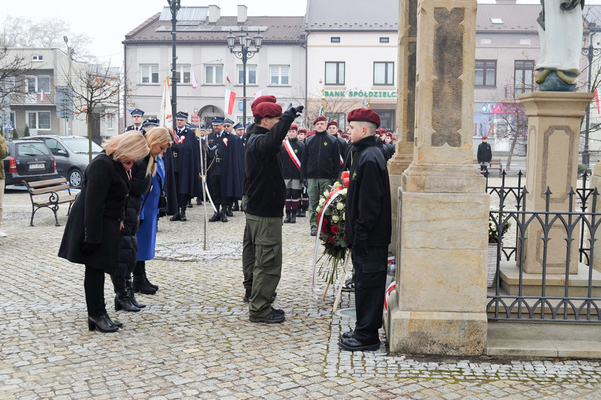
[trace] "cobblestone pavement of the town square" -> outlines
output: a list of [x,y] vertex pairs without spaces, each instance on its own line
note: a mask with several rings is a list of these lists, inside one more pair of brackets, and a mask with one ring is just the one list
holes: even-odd
[[[142,312],[109,314],[125,327],[89,332],[83,268],[56,257],[63,227],[52,213],[29,227],[29,195],[8,191],[0,239],[0,399],[600,399],[598,361],[389,357],[338,349],[354,325],[331,314],[333,296],[311,296],[314,242],[307,218],[283,228],[276,307],[286,322],[249,323],[242,302],[244,216],[210,224],[204,253],[201,208],[188,221],[162,218],[162,259],[147,263],[160,290]],[[66,207],[59,222],[66,222]],[[170,243],[178,243],[170,246]],[[224,244],[225,243],[225,244]],[[173,248],[181,248],[173,252]],[[217,256],[215,256],[217,255]],[[352,307],[343,294],[342,307]]]

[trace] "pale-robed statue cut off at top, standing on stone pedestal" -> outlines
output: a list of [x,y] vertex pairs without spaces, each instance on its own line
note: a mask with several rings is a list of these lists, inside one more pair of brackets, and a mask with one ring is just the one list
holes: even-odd
[[540,0],[540,60],[536,83],[541,91],[573,92],[580,75],[584,0]]

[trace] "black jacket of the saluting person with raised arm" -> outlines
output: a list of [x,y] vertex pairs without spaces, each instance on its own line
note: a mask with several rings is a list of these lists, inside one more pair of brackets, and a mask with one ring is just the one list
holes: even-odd
[[283,113],[271,130],[256,125],[251,131],[244,157],[244,188],[248,214],[282,217],[286,184],[282,175],[280,147],[294,116]]

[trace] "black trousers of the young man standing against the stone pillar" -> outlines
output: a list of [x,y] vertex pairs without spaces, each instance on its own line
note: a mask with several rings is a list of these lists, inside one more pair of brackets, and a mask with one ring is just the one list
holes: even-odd
[[380,340],[377,331],[382,328],[387,262],[388,246],[369,247],[365,257],[352,254],[357,310],[353,337],[364,344],[375,344]]

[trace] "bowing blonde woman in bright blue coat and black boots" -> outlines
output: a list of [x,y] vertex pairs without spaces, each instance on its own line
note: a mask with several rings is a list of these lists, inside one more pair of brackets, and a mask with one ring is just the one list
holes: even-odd
[[[173,143],[169,129],[155,127],[146,133],[146,141],[150,147],[150,154],[155,157],[156,173],[148,195],[143,196],[143,207],[140,214],[140,229],[138,238],[138,255],[134,267],[134,290],[143,294],[155,294],[159,289],[146,278],[146,261],[155,257],[155,244],[157,242],[157,216],[159,214],[159,198],[164,191],[165,166],[162,155],[167,147]],[[142,223],[143,221],[143,223]]]

